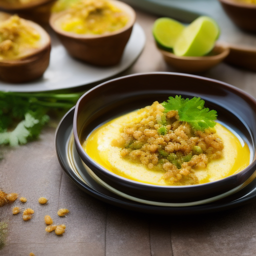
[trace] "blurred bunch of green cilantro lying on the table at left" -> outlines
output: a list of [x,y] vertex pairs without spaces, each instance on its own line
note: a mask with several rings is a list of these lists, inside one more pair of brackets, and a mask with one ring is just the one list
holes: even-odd
[[37,138],[48,114],[70,109],[81,94],[0,91],[0,144],[16,146]]

